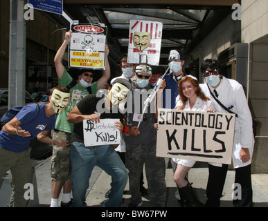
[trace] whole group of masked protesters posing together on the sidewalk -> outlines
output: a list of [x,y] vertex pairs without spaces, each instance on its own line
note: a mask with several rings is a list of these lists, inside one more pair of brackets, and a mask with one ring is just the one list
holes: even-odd
[[[59,86],[51,90],[50,102],[24,106],[0,132],[0,175],[3,177],[9,171],[12,185],[9,206],[27,205],[24,184],[31,180],[28,144],[33,137],[53,144],[51,207],[59,204],[62,207],[87,206],[86,192],[94,166],[99,166],[111,176],[111,189],[105,194],[107,200],[102,206],[121,206],[123,191],[129,180],[131,198],[127,207],[141,206],[144,195],[148,195],[152,206],[164,207],[167,198],[165,175],[169,162],[177,184],[175,198],[182,207],[220,206],[228,164],[208,164],[207,201],[205,204],[200,202],[188,180],[188,171],[195,161],[156,155],[159,133],[157,109],[160,107],[209,113],[232,111],[237,115],[232,160],[235,183],[241,185],[242,198],[234,199],[233,206],[252,206],[251,159],[254,137],[251,113],[242,85],[224,77],[217,60],[206,59],[202,62],[200,71],[206,84],[199,84],[197,77],[184,73],[185,57],[179,50],[170,51],[170,73],[164,79],[158,79],[154,85],[150,84],[152,67],[147,63],[129,63],[127,57],[120,62],[122,75],[109,80],[109,48],[105,46],[105,70],[93,82],[96,71],[77,69],[73,77],[62,64],[71,36],[71,30],[66,32],[62,46],[55,55]],[[139,96],[144,94],[147,97],[148,91],[156,85],[159,93],[154,99],[157,100],[159,96],[161,102],[150,102],[143,113],[145,104]],[[99,110],[99,102],[103,104],[102,110]],[[227,106],[229,111],[223,106]],[[115,126],[120,131],[120,144],[86,146],[84,119],[96,124],[100,119],[119,119]],[[52,137],[48,136],[49,131],[53,131]],[[143,186],[144,179],[148,182],[148,190]],[[59,202],[61,191],[62,201]]]

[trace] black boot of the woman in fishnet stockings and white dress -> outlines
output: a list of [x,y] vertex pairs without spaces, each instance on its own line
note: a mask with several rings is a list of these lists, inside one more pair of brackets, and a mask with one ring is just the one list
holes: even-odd
[[181,199],[184,199],[184,202],[188,207],[204,207],[204,204],[197,200],[193,187],[189,183],[179,189],[179,194],[181,195]]

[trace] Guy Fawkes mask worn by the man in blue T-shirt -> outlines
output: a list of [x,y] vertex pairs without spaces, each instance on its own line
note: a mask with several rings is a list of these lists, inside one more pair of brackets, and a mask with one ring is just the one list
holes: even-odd
[[53,90],[53,93],[51,95],[51,106],[55,113],[60,113],[66,106],[68,105],[69,102],[69,97],[70,93],[64,93],[60,90]]

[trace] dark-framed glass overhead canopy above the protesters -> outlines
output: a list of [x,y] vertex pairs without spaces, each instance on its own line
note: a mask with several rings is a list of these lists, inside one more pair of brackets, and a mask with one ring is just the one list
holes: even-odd
[[230,15],[233,3],[238,0],[64,0],[64,12],[80,23],[105,23],[110,57],[118,64],[127,55],[129,21],[160,21],[163,35],[159,64],[166,65],[170,50],[182,50],[187,56]]

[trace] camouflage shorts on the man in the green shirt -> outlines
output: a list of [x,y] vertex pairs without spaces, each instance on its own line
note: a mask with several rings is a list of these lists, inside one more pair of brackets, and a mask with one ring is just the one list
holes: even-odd
[[69,141],[69,146],[53,145],[51,157],[51,180],[65,181],[71,177],[71,133],[54,131],[53,140]]

